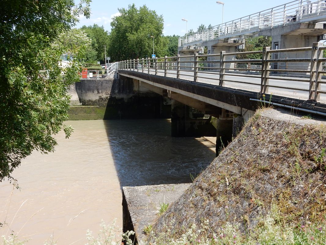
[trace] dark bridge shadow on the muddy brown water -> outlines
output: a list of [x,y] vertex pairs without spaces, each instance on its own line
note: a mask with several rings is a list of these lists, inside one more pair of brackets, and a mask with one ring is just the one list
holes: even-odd
[[170,120],[103,123],[121,187],[189,183],[215,158],[202,139],[172,138]]

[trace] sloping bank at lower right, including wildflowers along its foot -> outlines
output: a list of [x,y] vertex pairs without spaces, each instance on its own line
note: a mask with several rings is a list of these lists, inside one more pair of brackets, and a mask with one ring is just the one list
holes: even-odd
[[326,127],[264,110],[169,205],[149,242],[326,244]]

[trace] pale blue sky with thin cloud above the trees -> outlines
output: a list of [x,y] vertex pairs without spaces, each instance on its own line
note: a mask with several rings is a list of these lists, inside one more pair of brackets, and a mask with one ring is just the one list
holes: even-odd
[[[224,22],[247,16],[268,8],[290,2],[289,0],[221,0],[224,2]],[[163,15],[164,30],[166,35],[184,35],[186,23],[181,19],[188,20],[188,30],[197,30],[200,24],[208,26],[222,23],[222,5],[216,4],[216,0],[93,0],[91,3],[91,18],[81,18],[76,27],[82,25],[103,25],[104,29],[111,31],[111,19],[116,16],[118,8],[128,8],[134,3],[137,8],[146,5],[149,9],[155,10],[158,15]]]

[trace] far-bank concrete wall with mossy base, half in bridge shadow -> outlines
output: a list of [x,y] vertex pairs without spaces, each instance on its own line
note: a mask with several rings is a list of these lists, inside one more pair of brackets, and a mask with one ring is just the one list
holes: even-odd
[[[125,77],[81,79],[69,93],[73,96],[69,120],[170,118],[171,114],[167,99]],[[82,106],[75,106],[78,102]]]

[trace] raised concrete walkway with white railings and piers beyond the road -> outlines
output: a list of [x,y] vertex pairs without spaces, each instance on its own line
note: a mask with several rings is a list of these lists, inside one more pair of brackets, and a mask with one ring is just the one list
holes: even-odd
[[[255,36],[272,37],[271,49],[289,49],[311,46],[313,42],[324,40],[326,33],[325,0],[295,0],[258,13],[237,18],[215,25],[211,28],[186,34],[179,38],[178,53],[189,56],[202,53],[207,47],[208,54],[219,54],[221,51],[235,53],[244,48],[245,40]],[[283,52],[273,58],[306,58],[308,53]],[[235,56],[227,57],[229,60]],[[213,58],[212,58],[213,59]],[[186,57],[184,60],[188,60]],[[274,63],[274,69],[283,68],[283,64]],[[309,69],[309,62],[300,64]],[[298,67],[294,64],[293,68]]]

